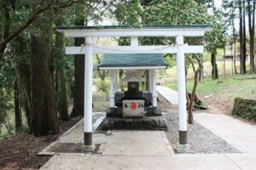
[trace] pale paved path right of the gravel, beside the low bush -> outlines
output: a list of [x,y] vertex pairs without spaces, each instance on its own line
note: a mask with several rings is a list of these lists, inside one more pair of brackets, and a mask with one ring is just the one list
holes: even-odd
[[195,114],[195,121],[238,150],[256,154],[256,126],[224,114],[198,113]]

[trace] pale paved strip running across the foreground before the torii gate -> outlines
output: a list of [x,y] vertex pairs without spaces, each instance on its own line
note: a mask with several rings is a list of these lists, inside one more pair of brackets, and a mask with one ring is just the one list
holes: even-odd
[[256,159],[245,154],[172,156],[55,155],[42,170],[255,170]]

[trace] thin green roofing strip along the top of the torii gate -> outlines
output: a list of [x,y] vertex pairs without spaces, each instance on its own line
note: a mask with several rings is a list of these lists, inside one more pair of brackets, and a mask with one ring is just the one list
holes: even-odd
[[104,29],[212,29],[212,25],[58,26],[58,30],[104,30]]

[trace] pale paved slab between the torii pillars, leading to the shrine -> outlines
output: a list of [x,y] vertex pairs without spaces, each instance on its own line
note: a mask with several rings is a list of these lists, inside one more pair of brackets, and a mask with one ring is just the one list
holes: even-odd
[[111,131],[103,156],[171,156],[164,131]]

